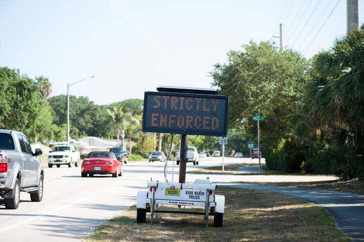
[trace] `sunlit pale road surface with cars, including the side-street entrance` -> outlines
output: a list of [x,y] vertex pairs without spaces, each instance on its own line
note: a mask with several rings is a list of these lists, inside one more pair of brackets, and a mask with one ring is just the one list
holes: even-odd
[[[249,163],[248,158],[225,158],[225,165]],[[205,158],[199,166],[188,163],[187,171],[207,166],[222,165],[221,158]],[[136,162],[124,166],[124,175],[118,178],[95,176],[81,178],[80,167],[45,168],[42,202],[31,202],[30,195],[21,193],[17,210],[6,210],[0,199],[1,242],[76,242],[87,236],[93,227],[105,222],[121,210],[136,203],[138,190],[146,189],[150,179],[164,181],[164,163]],[[179,166],[175,166],[178,173]],[[252,169],[257,170],[257,166]],[[172,167],[169,168],[172,170]],[[251,170],[253,172],[253,170]],[[287,177],[256,175],[208,175],[214,182],[286,181]],[[332,177],[297,177],[307,181],[331,180]],[[187,174],[193,182],[206,175]],[[172,175],[168,174],[172,180]],[[174,175],[178,181],[178,175]]]

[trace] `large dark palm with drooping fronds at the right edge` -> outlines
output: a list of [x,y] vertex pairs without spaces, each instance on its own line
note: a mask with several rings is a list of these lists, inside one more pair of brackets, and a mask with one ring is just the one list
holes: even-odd
[[[305,100],[305,124],[328,131],[325,166],[343,177],[364,177],[364,25],[334,41],[313,59],[316,80]],[[361,165],[358,165],[361,164]]]

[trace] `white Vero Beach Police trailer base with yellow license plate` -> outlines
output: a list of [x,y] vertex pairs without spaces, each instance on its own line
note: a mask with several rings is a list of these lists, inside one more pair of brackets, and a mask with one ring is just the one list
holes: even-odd
[[[208,227],[208,216],[214,216],[214,226],[222,227],[225,207],[225,196],[215,195],[216,185],[208,179],[196,179],[195,183],[148,181],[147,191],[138,191],[137,222],[144,223],[146,212],[151,213],[150,222],[153,224],[154,214],[158,213],[187,213],[205,216],[205,226]],[[158,210],[159,204],[176,205],[178,210]],[[181,210],[181,206],[201,206],[205,212]]]

